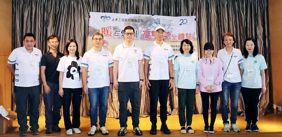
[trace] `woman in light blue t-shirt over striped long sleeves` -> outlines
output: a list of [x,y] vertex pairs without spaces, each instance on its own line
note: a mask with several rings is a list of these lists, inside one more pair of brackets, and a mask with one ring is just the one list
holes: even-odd
[[[174,62],[174,84],[175,95],[178,97],[180,132],[186,134],[188,131],[193,134],[191,127],[192,116],[195,104],[195,94],[199,93],[199,81],[197,71],[199,69],[198,58],[193,53],[193,44],[185,39],[180,44],[181,55],[177,56]],[[186,107],[186,118],[185,118]],[[185,120],[186,119],[186,120]],[[187,124],[187,128],[185,127]]]

